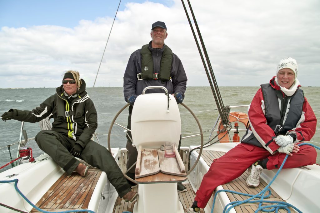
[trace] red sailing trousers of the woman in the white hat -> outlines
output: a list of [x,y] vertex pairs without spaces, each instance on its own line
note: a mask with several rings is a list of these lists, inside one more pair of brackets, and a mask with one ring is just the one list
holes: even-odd
[[[311,146],[302,145],[298,153],[292,154],[293,156],[288,156],[283,168],[296,168],[316,163],[316,149]],[[211,164],[196,192],[195,201],[198,202],[198,207],[204,208],[207,205],[217,186],[238,178],[257,160],[268,158],[267,169],[272,170],[281,166],[285,156],[285,153],[271,155],[265,148],[240,143]]]

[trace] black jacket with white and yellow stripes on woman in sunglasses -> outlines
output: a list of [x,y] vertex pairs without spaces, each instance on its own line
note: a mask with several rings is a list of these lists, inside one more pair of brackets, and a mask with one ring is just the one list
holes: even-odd
[[[14,116],[12,119],[35,123],[50,116],[50,118],[53,118],[53,131],[61,133],[66,137],[70,136],[82,147],[85,147],[98,126],[97,111],[85,91],[83,79],[80,90],[77,92],[77,95],[73,95],[74,98],[71,98],[69,103],[67,103],[65,95],[61,96],[63,94],[62,88],[63,85],[58,87],[55,95],[51,95],[34,110],[14,109],[17,116]],[[66,111],[68,110],[73,115],[66,117]]]

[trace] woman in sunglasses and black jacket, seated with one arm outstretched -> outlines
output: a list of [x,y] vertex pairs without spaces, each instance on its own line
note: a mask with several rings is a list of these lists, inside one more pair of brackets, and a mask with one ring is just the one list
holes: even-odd
[[137,193],[130,185],[107,148],[91,140],[98,126],[97,111],[85,91],[85,82],[79,72],[67,71],[62,85],[34,110],[10,109],[2,115],[4,121],[15,119],[30,123],[39,122],[50,116],[52,129],[37,133],[35,140],[39,148],[52,157],[67,174],[73,171],[86,176],[88,164],[105,171],[110,183],[120,197],[132,202]]

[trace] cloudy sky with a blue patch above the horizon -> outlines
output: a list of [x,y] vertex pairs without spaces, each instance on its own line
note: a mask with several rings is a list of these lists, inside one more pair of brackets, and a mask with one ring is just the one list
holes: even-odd
[[[285,57],[297,60],[302,86],[320,86],[320,1],[190,3],[218,86],[267,83]],[[58,87],[67,70],[87,87],[122,87],[131,53],[151,41],[156,21],[166,23],[165,44],[181,59],[187,86],[209,86],[180,0],[121,1],[108,40],[118,4],[0,0],[0,88]]]

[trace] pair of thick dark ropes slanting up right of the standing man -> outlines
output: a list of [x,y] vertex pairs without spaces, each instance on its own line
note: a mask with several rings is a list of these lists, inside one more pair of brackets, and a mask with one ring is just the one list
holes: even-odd
[[[185,11],[185,13],[187,15],[187,19],[188,19],[192,34],[194,36],[194,39],[195,39],[195,42],[196,42],[196,45],[197,45],[197,48],[198,48],[202,63],[204,65],[204,69],[205,69],[205,72],[207,74],[207,77],[208,77],[208,80],[209,80],[209,84],[210,84],[210,87],[211,87],[211,90],[212,90],[212,94],[213,94],[214,100],[216,102],[216,105],[217,105],[217,108],[218,108],[222,123],[223,123],[223,125],[226,126],[226,125],[229,124],[229,115],[228,115],[229,114],[229,106],[225,107],[224,104],[223,104],[222,97],[221,97],[221,94],[220,94],[220,90],[219,90],[219,87],[217,85],[217,81],[215,79],[215,76],[214,76],[214,73],[213,73],[213,70],[212,70],[212,65],[211,65],[207,50],[205,48],[204,41],[202,39],[202,35],[200,33],[200,29],[199,29],[197,21],[196,21],[196,17],[194,15],[193,10],[192,10],[190,1],[189,0],[187,0],[187,1],[188,1],[189,9],[191,11],[191,15],[192,15],[193,21],[194,21],[195,26],[196,26],[196,30],[197,30],[197,33],[198,33],[198,36],[199,36],[199,40],[201,42],[201,46],[202,46],[202,49],[203,49],[203,52],[204,52],[205,59],[207,61],[207,65],[206,65],[206,63],[204,61],[204,57],[203,57],[203,54],[202,54],[198,39],[196,38],[196,34],[195,34],[194,29],[193,29],[193,26],[192,26],[192,23],[191,23],[191,20],[190,20],[186,5],[184,4],[184,0],[181,0],[183,8],[184,8],[184,11]],[[209,74],[208,68],[209,68],[210,74]],[[210,75],[211,75],[211,77],[210,77]],[[213,84],[212,84],[212,81],[213,81]]]

